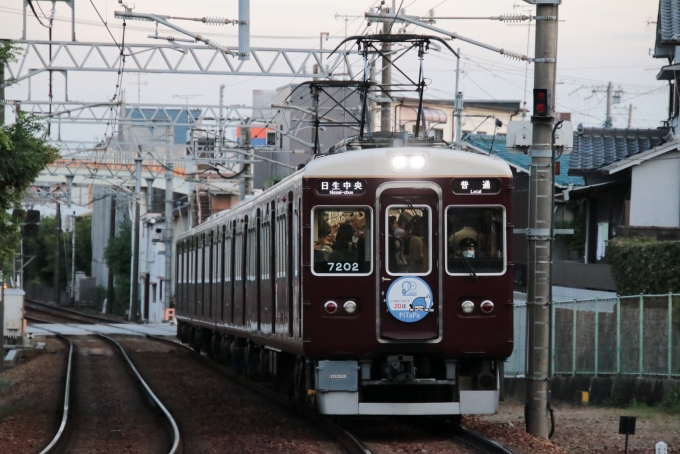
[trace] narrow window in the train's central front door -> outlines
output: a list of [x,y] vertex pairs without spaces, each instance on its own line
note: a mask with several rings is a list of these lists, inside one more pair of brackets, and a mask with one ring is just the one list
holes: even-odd
[[387,254],[389,274],[424,275],[431,269],[432,228],[426,206],[387,207]]

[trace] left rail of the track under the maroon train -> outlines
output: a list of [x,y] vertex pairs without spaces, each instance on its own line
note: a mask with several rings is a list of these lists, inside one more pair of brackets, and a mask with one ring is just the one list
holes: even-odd
[[338,426],[337,424],[334,424],[328,418],[325,418],[320,414],[316,413],[311,408],[302,405],[296,405],[295,403],[291,402],[281,394],[276,393],[271,389],[259,385],[255,382],[252,382],[247,378],[227,369],[226,367],[208,360],[207,358],[196,353],[192,348],[186,345],[177,343],[169,339],[164,339],[158,336],[147,335],[146,337],[148,339],[153,339],[157,342],[169,344],[176,348],[187,350],[192,354],[194,358],[201,361],[204,365],[211,368],[215,372],[224,375],[225,377],[232,381],[239,383],[243,387],[248,388],[250,391],[259,394],[260,396],[264,397],[267,400],[273,401],[274,403],[280,406],[286,407],[288,410],[292,410],[299,413],[302,417],[311,420],[322,430],[332,435],[338,441],[338,443],[340,443],[343,446],[343,448],[345,448],[345,450],[347,450],[347,452],[349,452],[350,454],[371,454],[371,450],[368,449],[358,438],[356,438],[350,432]]

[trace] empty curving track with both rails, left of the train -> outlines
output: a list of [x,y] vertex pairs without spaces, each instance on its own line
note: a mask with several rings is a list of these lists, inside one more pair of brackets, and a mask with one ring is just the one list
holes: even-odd
[[42,453],[177,451],[176,423],[118,343],[102,335],[61,338],[70,344],[63,415]]

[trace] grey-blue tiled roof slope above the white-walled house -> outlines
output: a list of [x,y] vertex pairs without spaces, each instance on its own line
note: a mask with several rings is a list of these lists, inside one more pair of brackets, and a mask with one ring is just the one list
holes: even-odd
[[667,128],[584,128],[581,133],[574,132],[569,173],[598,172],[602,167],[668,142],[668,132]]

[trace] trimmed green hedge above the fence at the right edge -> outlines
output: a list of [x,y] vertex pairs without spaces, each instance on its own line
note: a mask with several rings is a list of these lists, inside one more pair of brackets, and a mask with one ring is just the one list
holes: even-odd
[[607,245],[619,295],[680,292],[680,241],[614,238]]

